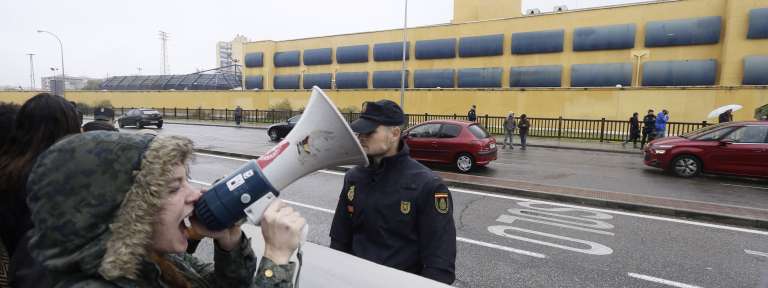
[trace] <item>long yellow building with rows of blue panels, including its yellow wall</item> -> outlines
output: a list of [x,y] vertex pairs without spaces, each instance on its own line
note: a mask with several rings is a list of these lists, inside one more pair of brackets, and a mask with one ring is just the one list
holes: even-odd
[[[451,23],[408,29],[408,113],[625,120],[668,109],[704,121],[768,104],[768,0],[653,1],[520,13],[520,0],[454,0]],[[340,107],[399,101],[400,29],[244,44],[247,91],[67,92],[116,106],[267,109],[306,105],[312,85]],[[14,96],[23,99],[28,96]],[[10,94],[0,93],[3,98]]]

